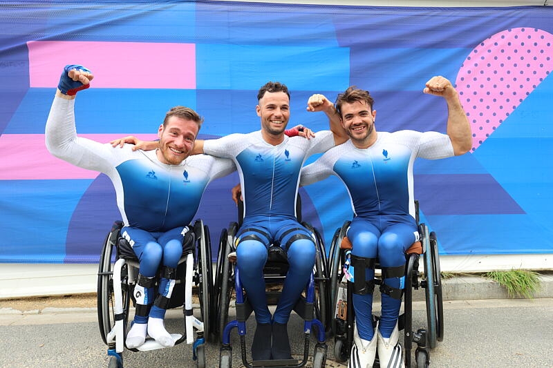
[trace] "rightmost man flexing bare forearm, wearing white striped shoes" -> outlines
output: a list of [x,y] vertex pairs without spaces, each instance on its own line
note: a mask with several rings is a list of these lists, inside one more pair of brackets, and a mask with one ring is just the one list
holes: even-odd
[[[353,244],[346,277],[353,282],[355,345],[350,367],[404,367],[397,318],[404,291],[406,249],[418,240],[413,200],[416,157],[439,159],[471,148],[471,130],[456,90],[444,77],[430,79],[424,93],[444,97],[449,116],[447,135],[375,130],[376,110],[366,90],[348,88],[335,108],[350,140],[327,151],[301,171],[301,185],[337,175],[346,184],[355,214],[347,235]],[[321,105],[332,103],[321,98]],[[382,267],[382,315],[373,327],[375,261]]]

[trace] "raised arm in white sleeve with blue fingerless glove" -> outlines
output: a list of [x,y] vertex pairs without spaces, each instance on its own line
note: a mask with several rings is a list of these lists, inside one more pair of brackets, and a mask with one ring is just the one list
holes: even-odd
[[105,173],[111,169],[109,146],[77,137],[75,128],[75,95],[88,88],[92,79],[92,72],[83,66],[64,68],[46,122],[46,148],[70,164]]

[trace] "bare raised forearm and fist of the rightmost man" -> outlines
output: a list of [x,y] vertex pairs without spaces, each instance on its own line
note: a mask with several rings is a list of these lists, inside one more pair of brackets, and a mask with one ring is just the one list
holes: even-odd
[[422,92],[444,97],[447,102],[447,135],[451,139],[453,152],[455,155],[469,152],[472,145],[469,119],[451,81],[440,76],[432,77]]

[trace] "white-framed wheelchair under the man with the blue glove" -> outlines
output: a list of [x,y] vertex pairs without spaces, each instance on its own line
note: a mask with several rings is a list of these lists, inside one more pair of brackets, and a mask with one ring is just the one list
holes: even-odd
[[[138,279],[138,258],[129,243],[122,238],[122,227],[121,221],[114,222],[104,241],[98,269],[98,325],[102,340],[108,346],[109,368],[123,367],[122,353],[126,348],[129,308],[131,302],[135,305],[133,291]],[[191,344],[196,367],[205,368],[205,340],[212,336],[209,333],[212,328],[209,311],[212,309],[213,294],[211,242],[209,229],[201,220],[197,220],[193,226],[188,227],[189,232],[185,235],[183,253],[176,269],[176,285],[169,300],[169,309],[182,306],[185,323],[182,334],[173,333],[171,336],[176,339],[175,345],[185,341]],[[160,269],[157,280],[159,280]],[[192,309],[194,286],[198,287],[201,321],[194,317]],[[194,337],[194,330],[196,330],[196,337]],[[129,350],[155,349],[162,349],[162,345],[148,338],[144,345]]]

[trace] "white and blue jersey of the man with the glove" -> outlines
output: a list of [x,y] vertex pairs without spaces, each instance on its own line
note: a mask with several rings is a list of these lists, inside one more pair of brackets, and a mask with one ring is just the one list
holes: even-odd
[[46,123],[46,146],[65,161],[100,171],[111,179],[125,226],[165,232],[191,222],[210,181],[236,170],[229,159],[187,157],[179,165],[162,164],[156,151],[113,148],[77,137],[75,100],[55,97]]

